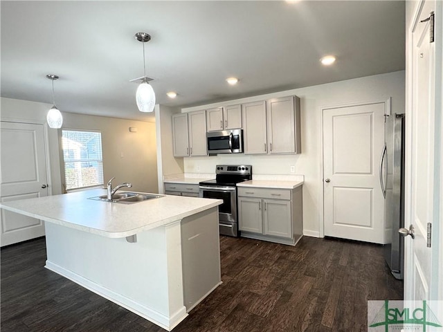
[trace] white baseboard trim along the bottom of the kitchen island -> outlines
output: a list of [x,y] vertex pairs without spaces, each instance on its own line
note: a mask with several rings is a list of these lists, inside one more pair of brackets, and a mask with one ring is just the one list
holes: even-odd
[[123,308],[127,308],[127,310],[132,311],[136,315],[139,315],[145,320],[149,320],[150,322],[161,326],[163,329],[171,331],[177,326],[182,320],[188,317],[188,313],[186,313],[186,307],[183,306],[176,313],[172,314],[171,317],[167,317],[157,311],[152,310],[151,308],[144,306],[138,302],[135,302],[129,297],[125,297],[124,295],[120,295],[111,291],[109,288],[100,286],[95,282],[92,282],[89,279],[78,275],[77,273],[73,273],[70,270],[66,270],[66,268],[62,268],[57,264],[52,263],[51,261],[46,260],[45,268],[51,270],[63,277],[75,282],[75,284],[79,284],[80,286],[87,288],[89,291],[96,293],[105,299],[109,299],[109,301],[122,306]]

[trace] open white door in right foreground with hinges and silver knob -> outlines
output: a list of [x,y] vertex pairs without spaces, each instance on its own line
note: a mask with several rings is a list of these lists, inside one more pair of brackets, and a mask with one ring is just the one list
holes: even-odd
[[[431,12],[440,20],[435,26],[435,42],[430,40],[431,20],[426,20]],[[443,225],[438,223],[442,193],[437,181],[442,159],[442,123],[438,121],[442,116],[442,13],[442,1],[421,1],[408,28],[405,225],[413,226],[415,239],[405,239],[406,300],[443,300],[443,278],[439,275]],[[438,70],[440,75],[436,75]],[[426,246],[428,225],[433,233],[430,248]]]

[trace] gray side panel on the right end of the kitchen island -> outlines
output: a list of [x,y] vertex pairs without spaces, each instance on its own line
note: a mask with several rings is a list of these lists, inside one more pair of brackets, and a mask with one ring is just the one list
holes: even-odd
[[192,310],[221,284],[218,208],[181,221],[183,296]]

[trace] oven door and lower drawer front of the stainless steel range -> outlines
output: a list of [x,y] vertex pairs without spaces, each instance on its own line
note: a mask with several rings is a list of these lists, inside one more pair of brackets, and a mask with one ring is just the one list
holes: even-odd
[[199,187],[199,196],[204,199],[221,199],[219,205],[220,234],[237,237],[237,189],[236,187]]

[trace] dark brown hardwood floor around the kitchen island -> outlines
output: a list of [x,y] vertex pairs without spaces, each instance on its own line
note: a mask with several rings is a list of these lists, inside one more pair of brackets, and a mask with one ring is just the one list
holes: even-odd
[[[368,299],[401,299],[383,248],[221,237],[223,284],[174,332],[368,331]],[[1,332],[165,331],[44,268],[45,241],[1,250]]]

